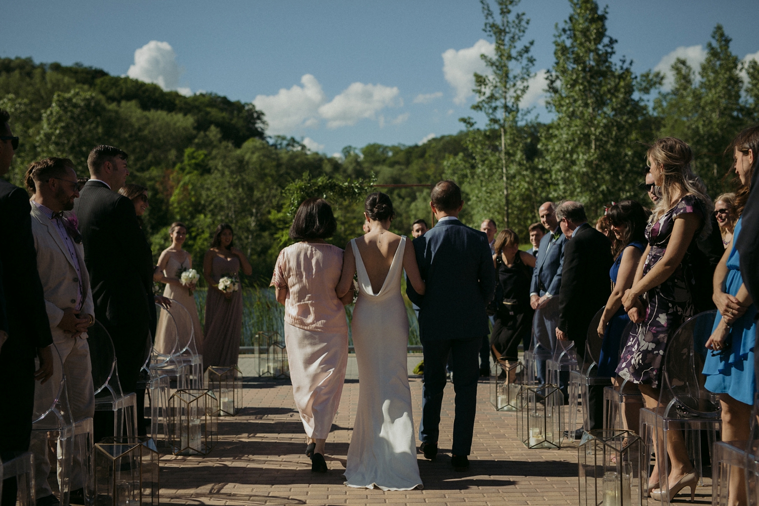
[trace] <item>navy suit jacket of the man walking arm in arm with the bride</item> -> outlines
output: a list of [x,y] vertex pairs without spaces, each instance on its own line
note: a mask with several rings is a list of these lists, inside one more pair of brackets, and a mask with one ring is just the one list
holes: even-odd
[[412,244],[427,286],[419,295],[407,279],[406,294],[419,306],[422,343],[490,334],[485,307],[496,291],[496,269],[487,235],[445,220]]

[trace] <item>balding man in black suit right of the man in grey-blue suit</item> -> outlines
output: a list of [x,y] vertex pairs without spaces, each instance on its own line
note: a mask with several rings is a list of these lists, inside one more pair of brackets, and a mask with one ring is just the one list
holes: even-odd
[[[611,294],[612,245],[604,234],[588,225],[581,203],[561,203],[556,209],[556,218],[568,239],[564,247],[556,338],[574,341],[578,360],[582,360],[587,328]],[[603,428],[603,386],[591,388],[588,413],[591,426],[585,429]]]

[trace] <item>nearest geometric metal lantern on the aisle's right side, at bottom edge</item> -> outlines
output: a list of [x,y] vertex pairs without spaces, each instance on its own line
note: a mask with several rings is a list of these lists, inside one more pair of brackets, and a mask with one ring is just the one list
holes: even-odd
[[647,470],[643,440],[628,430],[584,432],[578,448],[580,506],[641,506]]

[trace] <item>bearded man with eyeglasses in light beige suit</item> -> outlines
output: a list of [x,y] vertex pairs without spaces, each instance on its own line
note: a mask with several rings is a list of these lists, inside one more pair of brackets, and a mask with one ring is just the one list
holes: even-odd
[[[50,331],[60,360],[53,363],[52,380],[34,391],[35,412],[50,407],[61,378],[66,376],[68,409],[74,420],[91,418],[95,413],[90,346],[87,328],[95,322],[90,275],[84,265],[82,236],[71,221],[79,183],[74,164],[66,158],[46,158],[29,166],[25,178],[33,193],[32,233],[37,263],[45,266],[39,278],[43,283]],[[44,422],[43,422],[44,423]],[[69,486],[71,504],[84,504],[86,465],[81,459],[80,438],[74,438],[73,466]],[[48,484],[50,463],[47,442],[35,439],[34,454],[36,506],[59,504]],[[60,473],[60,469],[58,472]]]

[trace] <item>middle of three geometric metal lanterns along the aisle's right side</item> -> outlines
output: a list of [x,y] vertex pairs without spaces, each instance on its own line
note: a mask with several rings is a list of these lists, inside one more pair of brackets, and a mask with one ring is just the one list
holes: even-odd
[[563,394],[556,385],[521,385],[517,434],[528,448],[560,448]]

